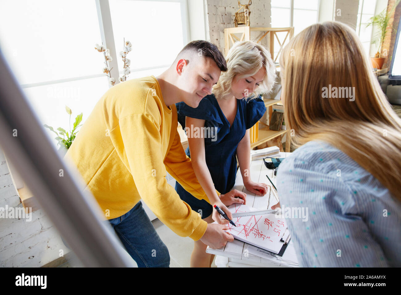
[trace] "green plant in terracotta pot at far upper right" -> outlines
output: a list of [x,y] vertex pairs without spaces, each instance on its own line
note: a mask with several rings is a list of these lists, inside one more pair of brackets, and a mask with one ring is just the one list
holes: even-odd
[[385,54],[383,54],[382,45],[384,37],[387,33],[387,26],[389,24],[391,13],[399,2],[400,0],[397,0],[397,2],[394,3],[389,12],[387,12],[387,8],[385,8],[379,14],[376,14],[375,16],[369,18],[369,22],[366,25],[366,27],[368,27],[376,24],[378,27],[378,31],[373,36],[372,43],[375,43],[376,46],[377,44],[379,44],[379,47],[377,48],[377,53],[375,54],[375,57],[371,57],[372,67],[376,69],[381,69],[383,67],[384,60],[387,57],[387,51],[385,51]]

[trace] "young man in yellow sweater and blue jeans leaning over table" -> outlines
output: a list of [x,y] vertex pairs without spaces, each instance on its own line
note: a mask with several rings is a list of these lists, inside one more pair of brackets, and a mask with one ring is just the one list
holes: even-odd
[[[139,267],[170,264],[168,249],[142,208],[141,198],[179,236],[201,239],[211,248],[233,240],[224,231],[226,225],[203,221],[165,178],[167,170],[192,195],[209,201],[182,148],[174,104],[183,101],[196,108],[211,94],[221,71],[227,71],[227,65],[217,47],[192,41],[157,78],[132,79],[111,87],[67,152],[87,184],[85,190],[97,199]],[[237,190],[217,194],[225,205],[243,203],[246,196]]]

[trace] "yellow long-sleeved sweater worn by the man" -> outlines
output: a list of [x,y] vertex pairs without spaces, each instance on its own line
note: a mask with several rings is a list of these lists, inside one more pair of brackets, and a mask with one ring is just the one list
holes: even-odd
[[210,203],[182,148],[176,107],[164,104],[154,76],[111,87],[79,130],[66,157],[77,166],[85,190],[94,195],[106,219],[122,216],[142,198],[179,236],[198,240],[205,233],[207,222],[180,199],[165,178],[167,170],[186,191]]

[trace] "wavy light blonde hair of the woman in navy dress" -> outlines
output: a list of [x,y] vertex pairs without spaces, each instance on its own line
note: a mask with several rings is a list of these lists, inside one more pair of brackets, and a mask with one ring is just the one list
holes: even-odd
[[247,98],[256,98],[259,94],[271,92],[275,83],[276,70],[265,46],[254,41],[235,42],[227,54],[226,63],[227,71],[221,73],[219,81],[213,86],[213,94],[216,98],[222,98],[231,92],[231,83],[235,76],[239,79],[249,77],[255,75],[262,67],[265,67],[266,75]]

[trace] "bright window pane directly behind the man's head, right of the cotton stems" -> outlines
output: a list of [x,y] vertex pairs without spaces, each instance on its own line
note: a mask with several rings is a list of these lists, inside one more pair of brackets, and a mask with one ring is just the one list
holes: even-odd
[[[115,51],[122,50],[124,38],[132,43],[128,79],[162,73],[188,43],[183,1],[109,0],[109,4]],[[118,58],[120,73],[123,66]]]

